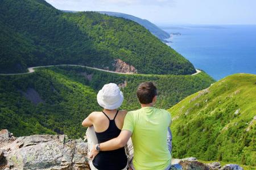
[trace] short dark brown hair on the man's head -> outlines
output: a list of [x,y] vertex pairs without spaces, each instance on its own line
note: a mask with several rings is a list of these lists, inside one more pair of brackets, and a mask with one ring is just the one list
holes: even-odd
[[137,97],[141,104],[150,104],[155,96],[157,96],[156,87],[152,82],[144,82],[139,84],[137,89]]

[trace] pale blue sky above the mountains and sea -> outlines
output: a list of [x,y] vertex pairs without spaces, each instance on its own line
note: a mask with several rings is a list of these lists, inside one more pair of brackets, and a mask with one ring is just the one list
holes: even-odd
[[122,12],[168,24],[256,24],[255,0],[46,0],[60,10]]

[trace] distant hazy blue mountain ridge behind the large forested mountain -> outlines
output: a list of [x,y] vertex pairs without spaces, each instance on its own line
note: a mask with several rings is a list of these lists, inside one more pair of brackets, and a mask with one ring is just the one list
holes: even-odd
[[117,16],[119,18],[126,18],[126,19],[133,20],[134,22],[137,22],[137,23],[141,24],[143,27],[147,28],[148,31],[150,31],[153,35],[155,35],[156,37],[158,37],[158,39],[160,39],[162,41],[164,41],[165,39],[170,38],[169,33],[163,31],[161,28],[159,28],[158,26],[149,22],[146,19],[141,19],[141,18],[138,18],[138,17],[133,16],[133,15],[123,14],[123,13],[119,13],[119,12],[101,11],[100,14],[106,14],[106,15],[110,15],[110,16]]

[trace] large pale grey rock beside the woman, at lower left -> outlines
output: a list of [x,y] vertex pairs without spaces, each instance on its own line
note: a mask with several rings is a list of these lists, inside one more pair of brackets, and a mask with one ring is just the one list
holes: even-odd
[[87,143],[65,135],[19,137],[3,148],[10,169],[89,169]]

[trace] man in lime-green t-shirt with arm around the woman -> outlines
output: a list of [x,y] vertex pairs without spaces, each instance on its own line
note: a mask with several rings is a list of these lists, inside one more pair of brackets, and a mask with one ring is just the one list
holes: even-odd
[[[139,85],[137,97],[141,109],[126,114],[121,133],[117,138],[93,147],[91,158],[100,151],[117,150],[124,147],[131,137],[134,147],[135,169],[169,169],[171,165],[171,134],[168,127],[171,115],[164,109],[155,108],[157,90],[153,83]],[[170,132],[170,131],[169,131]],[[166,144],[168,141],[168,145]],[[169,149],[168,149],[169,147]]]

